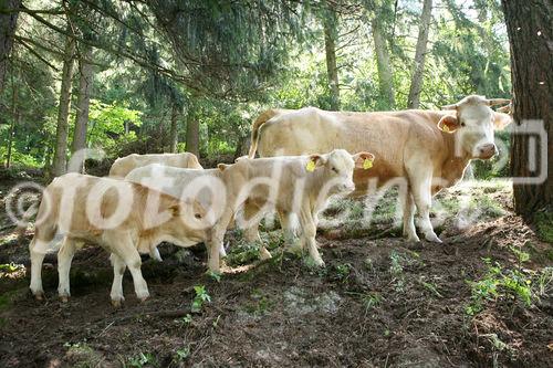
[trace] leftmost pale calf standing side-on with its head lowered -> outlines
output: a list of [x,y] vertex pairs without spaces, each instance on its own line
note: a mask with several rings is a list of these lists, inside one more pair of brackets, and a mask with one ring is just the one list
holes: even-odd
[[195,201],[180,201],[146,187],[80,174],[55,178],[44,190],[35,222],[31,253],[31,292],[43,296],[41,267],[46,252],[55,249],[56,234],[63,238],[58,252],[63,301],[70,295],[71,261],[84,242],[101,245],[112,253],[114,267],[112,303],[123,297],[123,273],[133,275],[136,296],[149,296],[140,272],[139,253],[152,253],[160,242],[170,240],[189,246],[209,238],[204,223],[205,209]]

